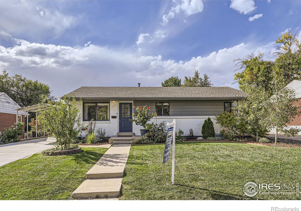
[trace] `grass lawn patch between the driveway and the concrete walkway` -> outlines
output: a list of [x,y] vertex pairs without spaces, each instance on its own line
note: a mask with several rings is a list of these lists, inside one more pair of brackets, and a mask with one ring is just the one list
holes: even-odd
[[107,148],[82,147],[71,155],[41,153],[0,167],[0,200],[66,200]]

